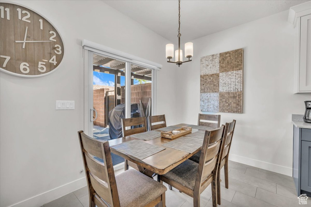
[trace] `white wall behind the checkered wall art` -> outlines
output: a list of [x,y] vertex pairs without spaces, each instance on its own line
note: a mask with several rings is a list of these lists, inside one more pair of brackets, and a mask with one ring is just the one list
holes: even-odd
[[231,160],[292,174],[291,114],[304,113],[310,94],[294,93],[295,31],[288,11],[193,40],[193,61],[180,67],[180,122],[197,123],[200,113],[200,57],[244,48],[242,114],[217,113],[221,123],[236,119]]

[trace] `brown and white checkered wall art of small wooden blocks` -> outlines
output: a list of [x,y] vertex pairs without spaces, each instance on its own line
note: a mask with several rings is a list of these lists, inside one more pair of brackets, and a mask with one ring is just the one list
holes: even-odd
[[243,48],[202,57],[200,110],[243,113]]

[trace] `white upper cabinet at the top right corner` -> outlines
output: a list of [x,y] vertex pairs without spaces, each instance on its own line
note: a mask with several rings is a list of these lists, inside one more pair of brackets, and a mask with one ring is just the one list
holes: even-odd
[[290,7],[295,28],[294,93],[311,93],[311,1]]

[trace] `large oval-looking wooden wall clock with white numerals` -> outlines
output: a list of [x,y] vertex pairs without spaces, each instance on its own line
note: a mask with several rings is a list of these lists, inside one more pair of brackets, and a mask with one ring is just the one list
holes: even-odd
[[56,28],[43,16],[15,3],[0,2],[0,70],[23,77],[47,75],[64,57]]

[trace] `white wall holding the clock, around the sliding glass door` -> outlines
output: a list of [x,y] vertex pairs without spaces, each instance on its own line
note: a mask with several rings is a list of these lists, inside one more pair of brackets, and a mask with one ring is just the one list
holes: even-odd
[[[77,131],[83,129],[83,58],[88,39],[163,64],[157,113],[176,122],[168,41],[101,1],[14,1],[49,19],[63,36],[65,57],[54,73],[26,79],[0,73],[0,206],[40,206],[86,185]],[[55,111],[55,100],[75,110]]]

